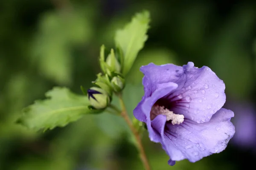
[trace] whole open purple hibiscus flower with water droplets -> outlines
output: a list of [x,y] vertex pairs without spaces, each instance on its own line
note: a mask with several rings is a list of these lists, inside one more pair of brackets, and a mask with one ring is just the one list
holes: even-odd
[[235,133],[234,113],[221,108],[225,85],[210,68],[150,63],[140,71],[145,94],[134,116],[146,123],[151,141],[162,144],[169,165],[195,162],[227,147]]

